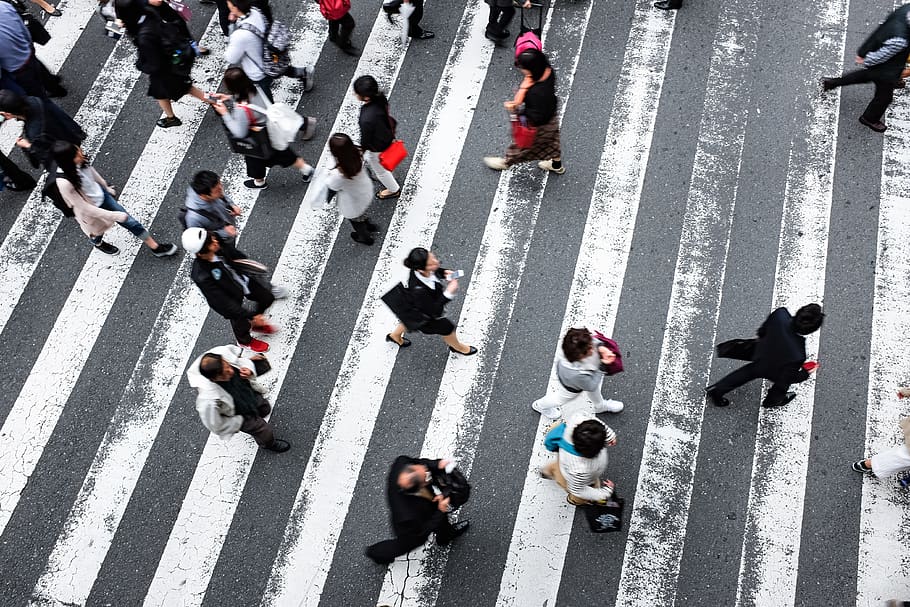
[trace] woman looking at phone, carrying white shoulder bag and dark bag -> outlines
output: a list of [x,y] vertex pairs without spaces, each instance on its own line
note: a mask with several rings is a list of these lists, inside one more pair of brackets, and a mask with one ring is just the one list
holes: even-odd
[[[251,130],[265,127],[265,114],[261,111],[268,104],[268,99],[263,99],[265,91],[260,95],[256,85],[247,77],[239,67],[229,68],[224,73],[224,85],[231,93],[228,95],[215,95],[221,99],[213,107],[221,116],[224,125],[235,138],[246,137]],[[233,109],[228,110],[224,101],[233,101]],[[265,105],[263,105],[265,104]],[[316,119],[308,116],[303,122],[303,139],[311,139],[316,129]],[[288,146],[284,150],[272,149],[268,158],[254,158],[244,156],[246,160],[246,174],[250,177],[243,185],[252,190],[262,190],[268,186],[265,180],[266,169],[273,166],[293,166],[300,171],[304,183],[313,176],[313,167],[294,150]]]

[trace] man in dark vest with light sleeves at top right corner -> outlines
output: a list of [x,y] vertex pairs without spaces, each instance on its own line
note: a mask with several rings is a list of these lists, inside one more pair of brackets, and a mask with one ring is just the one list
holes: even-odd
[[875,96],[859,121],[873,131],[883,133],[888,127],[882,122],[882,116],[894,99],[894,89],[906,67],[908,55],[910,4],[905,4],[891,13],[857,49],[856,63],[862,65],[862,69],[848,72],[840,78],[822,78],[822,89],[830,91],[860,82],[875,83]]

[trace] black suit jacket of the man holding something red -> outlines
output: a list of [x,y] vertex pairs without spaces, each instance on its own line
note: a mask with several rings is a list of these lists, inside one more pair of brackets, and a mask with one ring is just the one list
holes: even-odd
[[762,377],[772,381],[793,384],[809,378],[802,368],[806,362],[806,338],[793,329],[793,317],[787,308],[771,312],[759,327],[752,362]]

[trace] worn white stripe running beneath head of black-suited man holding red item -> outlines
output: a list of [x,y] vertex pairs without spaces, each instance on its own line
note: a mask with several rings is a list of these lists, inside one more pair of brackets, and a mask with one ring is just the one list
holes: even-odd
[[[812,31],[824,32],[800,61],[808,74],[836,73],[843,61],[849,0],[817,3]],[[817,95],[790,150],[773,308],[821,302],[834,179],[839,94]],[[818,334],[806,350],[818,348]],[[761,408],[752,462],[737,607],[793,605],[809,461],[815,381],[796,387],[786,407]],[[787,504],[781,508],[781,504]]]

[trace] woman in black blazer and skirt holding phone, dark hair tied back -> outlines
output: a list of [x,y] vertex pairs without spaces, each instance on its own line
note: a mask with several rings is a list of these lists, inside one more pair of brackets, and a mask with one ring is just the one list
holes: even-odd
[[[456,354],[477,354],[477,348],[461,343],[455,333],[455,323],[444,315],[446,304],[458,290],[458,280],[449,279],[452,271],[439,267],[439,259],[423,247],[412,249],[404,265],[411,270],[407,286],[414,307],[429,317],[418,330],[425,335],[442,335],[449,350]],[[411,340],[404,336],[406,329],[404,323],[399,322],[395,330],[385,336],[386,341],[407,348]]]

